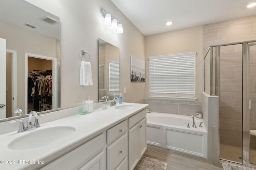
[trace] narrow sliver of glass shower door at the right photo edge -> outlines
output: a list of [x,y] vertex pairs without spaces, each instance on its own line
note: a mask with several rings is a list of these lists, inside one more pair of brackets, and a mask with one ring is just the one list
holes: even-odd
[[256,164],[256,43],[248,44],[250,55],[250,100],[248,102],[249,116],[249,158],[250,164]]

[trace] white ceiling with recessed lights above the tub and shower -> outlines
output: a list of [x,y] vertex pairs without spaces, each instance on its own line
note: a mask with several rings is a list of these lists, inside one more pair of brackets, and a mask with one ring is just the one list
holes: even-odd
[[253,0],[111,1],[145,36],[256,15],[256,7],[246,8]]

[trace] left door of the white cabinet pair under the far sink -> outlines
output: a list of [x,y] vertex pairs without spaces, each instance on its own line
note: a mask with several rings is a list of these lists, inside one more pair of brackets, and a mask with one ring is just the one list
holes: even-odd
[[133,170],[136,166],[137,162],[139,161],[138,150],[139,149],[139,127],[135,125],[128,131],[128,162],[129,162],[129,170]]

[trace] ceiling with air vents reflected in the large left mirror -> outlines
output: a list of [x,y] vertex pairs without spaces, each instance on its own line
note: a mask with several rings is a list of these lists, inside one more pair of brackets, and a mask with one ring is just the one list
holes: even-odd
[[[24,1],[24,0],[0,0],[0,21],[16,25],[48,37],[60,39],[60,25],[49,24],[42,20],[44,16],[53,18],[54,20],[60,20],[60,18]],[[36,26],[36,28],[30,28],[25,25]]]

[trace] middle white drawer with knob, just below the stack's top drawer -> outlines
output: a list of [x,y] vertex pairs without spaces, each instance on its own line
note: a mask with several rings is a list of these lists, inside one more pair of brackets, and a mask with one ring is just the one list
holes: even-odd
[[107,147],[107,169],[114,170],[128,154],[128,135],[125,133]]

